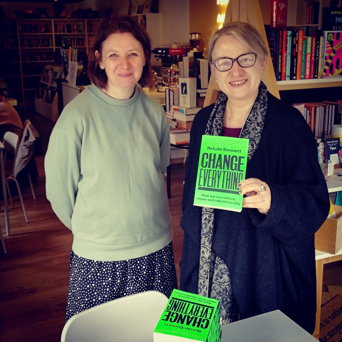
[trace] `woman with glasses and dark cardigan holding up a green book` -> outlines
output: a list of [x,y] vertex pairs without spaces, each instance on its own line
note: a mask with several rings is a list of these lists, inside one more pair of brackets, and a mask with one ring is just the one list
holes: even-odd
[[[218,299],[221,324],[279,309],[312,333],[314,234],[329,212],[314,136],[261,81],[267,50],[253,26],[214,32],[208,61],[222,93],[190,132],[180,288]],[[193,205],[204,134],[249,139],[241,212]]]

